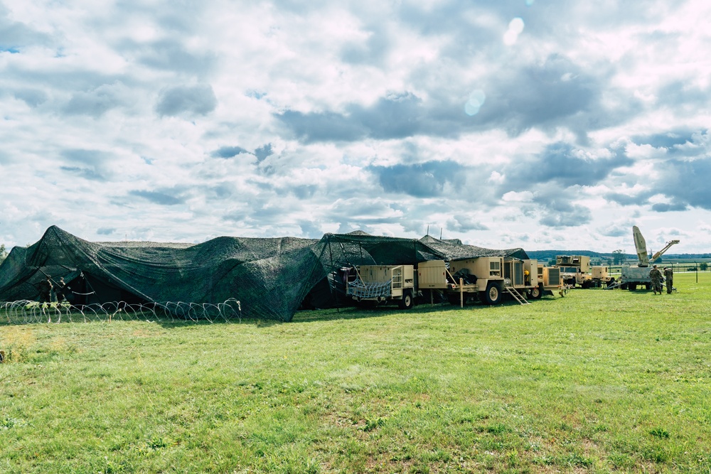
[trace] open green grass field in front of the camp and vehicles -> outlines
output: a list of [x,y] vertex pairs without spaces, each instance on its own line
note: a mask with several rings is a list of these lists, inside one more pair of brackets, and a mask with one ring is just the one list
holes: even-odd
[[1,473],[711,472],[711,274],[678,293],[1,323]]

